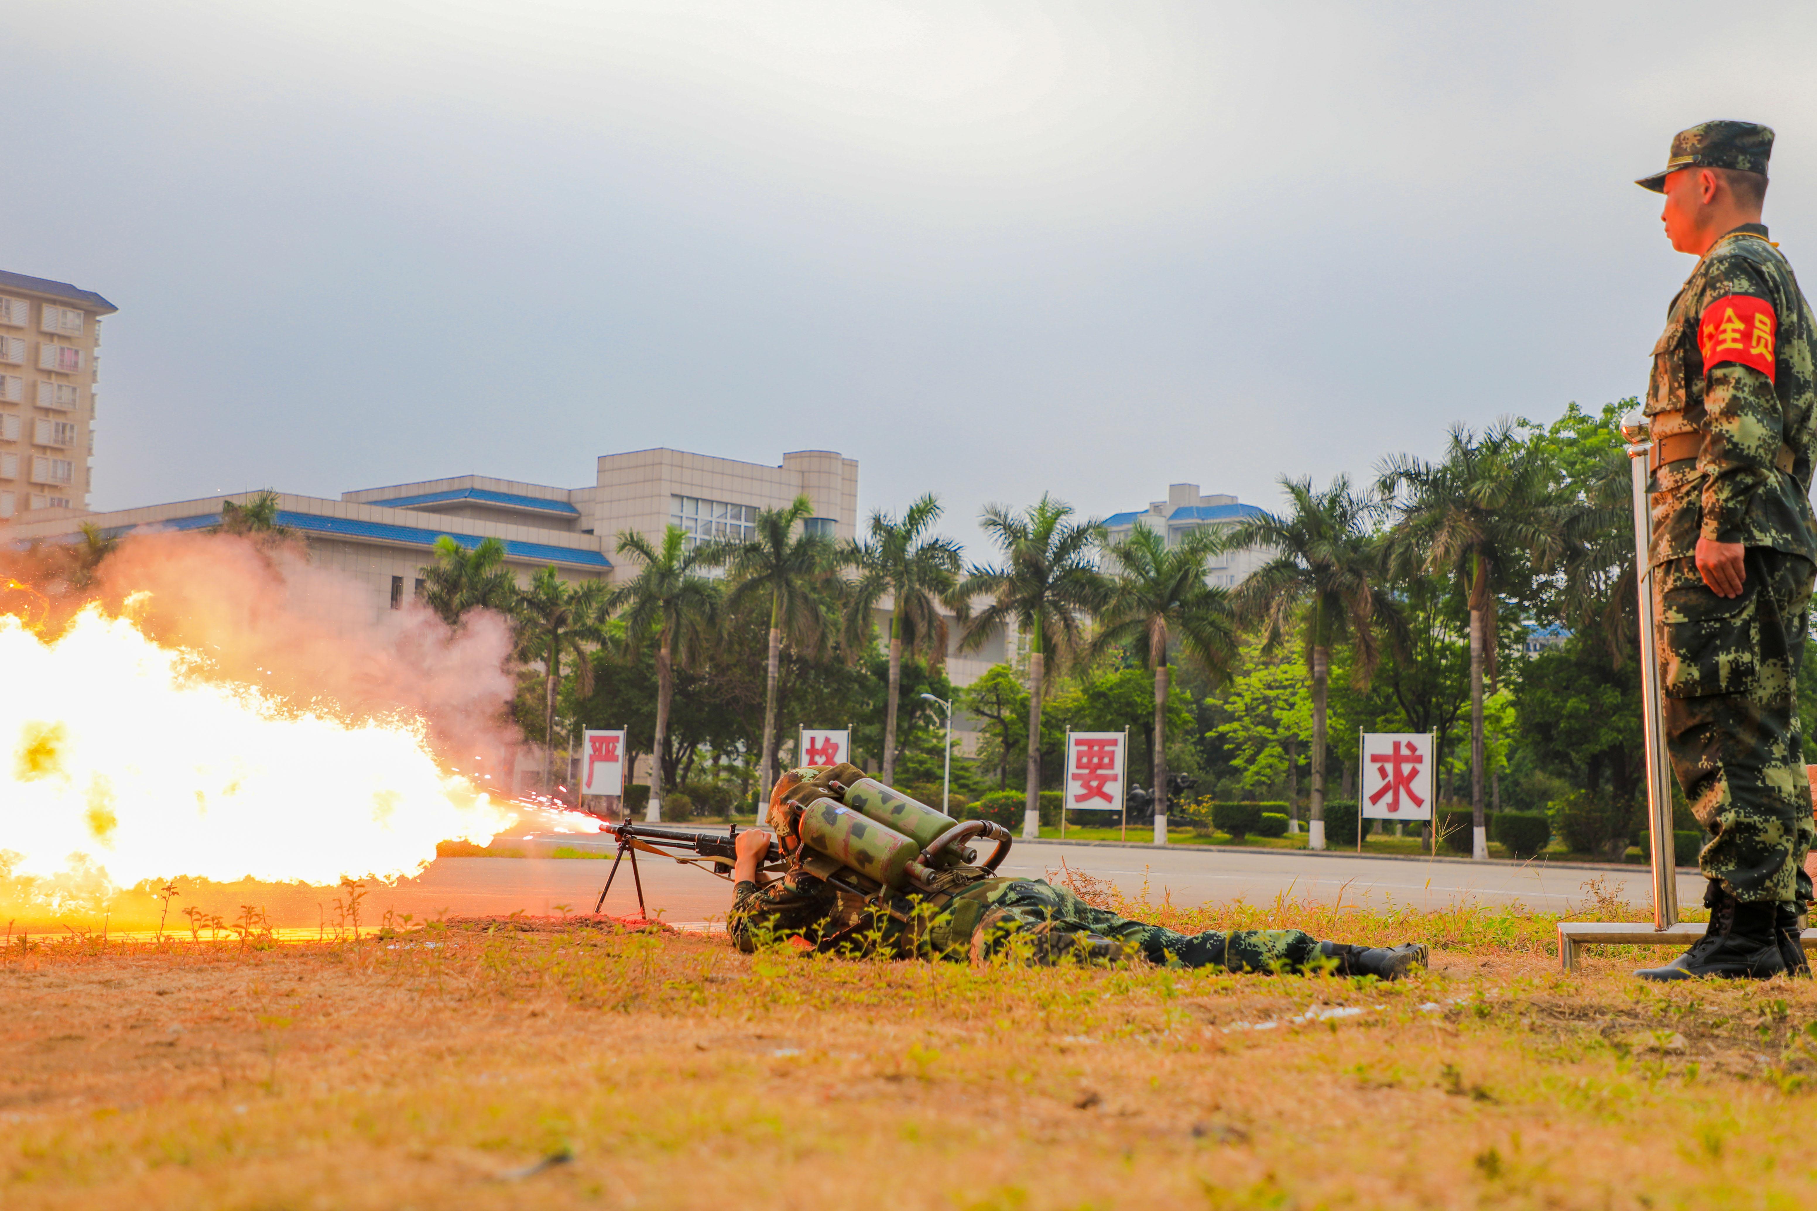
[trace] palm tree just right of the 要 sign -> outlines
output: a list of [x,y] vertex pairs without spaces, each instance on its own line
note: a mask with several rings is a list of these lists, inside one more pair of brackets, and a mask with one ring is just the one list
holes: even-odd
[[1117,565],[1110,597],[1099,612],[1094,652],[1134,643],[1148,648],[1154,668],[1154,842],[1167,844],[1167,695],[1172,668],[1168,646],[1177,643],[1208,677],[1230,666],[1236,626],[1230,597],[1205,581],[1205,561],[1219,548],[1210,530],[1192,530],[1168,546],[1167,539],[1137,525],[1110,546]]

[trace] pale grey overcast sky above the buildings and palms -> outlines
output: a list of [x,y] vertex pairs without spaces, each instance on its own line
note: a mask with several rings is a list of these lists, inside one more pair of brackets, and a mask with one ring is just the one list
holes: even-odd
[[96,508],[654,445],[1087,514],[1274,505],[1643,390],[1630,182],[1779,131],[1817,9],[11,0],[0,267],[107,320]]

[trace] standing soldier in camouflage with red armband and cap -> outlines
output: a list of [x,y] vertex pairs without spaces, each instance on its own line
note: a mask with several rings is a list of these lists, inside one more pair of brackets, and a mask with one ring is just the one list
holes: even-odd
[[1764,125],[1704,122],[1637,182],[1666,196],[1672,247],[1699,258],[1653,347],[1646,414],[1666,741],[1712,833],[1710,928],[1639,971],[1650,980],[1810,973],[1797,674],[1817,568],[1817,325],[1761,225],[1772,149]]

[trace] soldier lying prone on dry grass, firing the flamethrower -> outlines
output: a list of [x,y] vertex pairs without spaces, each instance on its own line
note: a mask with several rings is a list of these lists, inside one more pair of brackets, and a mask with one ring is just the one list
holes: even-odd
[[[869,815],[861,819],[845,804],[859,804]],[[999,955],[1034,964],[1117,962],[1137,955],[1167,966],[1277,973],[1328,970],[1386,980],[1426,966],[1426,948],[1417,942],[1350,946],[1321,942],[1301,930],[1176,933],[1094,908],[1070,890],[1041,879],[999,877],[988,862],[918,866],[916,882],[901,890],[894,890],[887,875],[876,888],[839,886],[825,853],[809,846],[805,837],[832,848],[825,828],[838,824],[841,815],[858,821],[861,837],[876,837],[874,824],[883,815],[879,806],[896,813],[892,822],[910,832],[916,817],[934,821],[934,828],[954,824],[943,813],[867,779],[852,764],[803,766],[783,773],[770,793],[769,824],[787,855],[787,871],[769,879],[760,870],[769,853],[769,833],[752,830],[738,835],[729,922],[734,944],[750,951],[765,937],[787,937],[823,953],[958,962],[985,962]],[[925,857],[927,850],[921,853]],[[859,864],[883,873],[887,859]]]

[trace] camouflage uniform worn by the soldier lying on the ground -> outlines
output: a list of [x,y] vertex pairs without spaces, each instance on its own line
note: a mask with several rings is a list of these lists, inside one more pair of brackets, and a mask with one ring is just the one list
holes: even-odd
[[750,951],[769,937],[801,937],[814,950],[894,959],[987,962],[1007,955],[1032,962],[1141,955],[1167,966],[1230,971],[1310,971],[1330,968],[1319,942],[1299,930],[1236,930],[1185,935],[1092,908],[1067,888],[1039,879],[990,877],[978,868],[948,871],[950,888],[932,895],[890,895],[885,904],[792,871],[760,888],[732,891],[730,935]]

